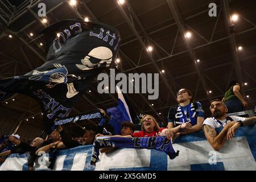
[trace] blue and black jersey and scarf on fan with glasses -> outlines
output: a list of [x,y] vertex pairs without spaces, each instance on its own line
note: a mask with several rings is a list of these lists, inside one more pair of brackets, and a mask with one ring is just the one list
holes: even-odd
[[[190,121],[192,126],[196,125],[197,117],[205,118],[204,110],[200,102],[194,102],[197,108],[193,106],[193,102],[187,106],[171,107],[168,113],[168,122],[172,122],[175,126]],[[174,115],[175,114],[175,115]]]

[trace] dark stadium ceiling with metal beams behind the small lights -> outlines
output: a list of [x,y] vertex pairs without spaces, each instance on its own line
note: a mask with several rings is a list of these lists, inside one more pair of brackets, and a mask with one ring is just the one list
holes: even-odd
[[[44,63],[47,47],[39,32],[47,25],[37,16],[40,2],[47,7],[47,24],[87,16],[118,28],[121,62],[112,65],[118,66],[118,72],[160,73],[164,69],[158,100],[147,100],[147,94],[127,94],[137,113],[152,114],[159,122],[166,122],[168,109],[176,105],[177,90],[185,87],[209,116],[209,101],[222,98],[231,80],[247,82],[242,93],[249,96],[248,109],[256,105],[256,1],[126,0],[119,5],[117,0],[84,0],[77,1],[76,7],[68,1],[1,1],[0,78],[24,75]],[[208,15],[209,3],[216,3],[216,17]],[[234,13],[238,15],[233,22],[236,30],[230,32],[230,15]],[[189,39],[184,36],[187,31],[192,34]],[[147,46],[153,47],[151,53],[145,50]],[[98,94],[97,84],[92,83],[92,92],[84,94],[72,115],[117,105],[117,95]],[[17,132],[24,135],[33,128],[35,132],[24,137],[31,139],[42,132],[41,120],[38,103],[27,96],[15,94],[0,106],[1,134],[12,133],[19,126]],[[95,127],[91,122],[80,126]]]

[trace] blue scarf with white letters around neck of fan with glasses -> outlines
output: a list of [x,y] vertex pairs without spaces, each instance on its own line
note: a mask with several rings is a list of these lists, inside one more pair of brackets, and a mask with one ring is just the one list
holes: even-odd
[[183,107],[177,107],[177,112],[175,114],[175,126],[177,124],[183,124],[188,121],[191,122],[192,126],[196,125],[196,110],[193,103],[189,104],[186,107],[188,107],[188,113],[185,113],[186,111],[184,111]]

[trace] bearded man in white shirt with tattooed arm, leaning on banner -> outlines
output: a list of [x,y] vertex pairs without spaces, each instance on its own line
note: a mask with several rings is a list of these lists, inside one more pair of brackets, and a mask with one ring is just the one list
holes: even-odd
[[[210,113],[213,117],[205,119],[203,130],[205,137],[214,150],[218,151],[224,146],[226,139],[233,139],[238,127],[255,125],[256,117],[242,118],[237,116],[227,116],[228,107],[224,102],[215,99],[210,103]],[[221,129],[217,134],[216,129]]]

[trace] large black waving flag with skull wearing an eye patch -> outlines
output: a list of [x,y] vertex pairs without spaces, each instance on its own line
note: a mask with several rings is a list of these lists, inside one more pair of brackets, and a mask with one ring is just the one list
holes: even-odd
[[112,64],[121,37],[107,24],[73,19],[52,24],[42,33],[51,41],[46,63],[26,75],[0,80],[0,101],[14,93],[35,98],[42,107],[45,131],[51,133],[53,121],[67,117],[93,78]]

